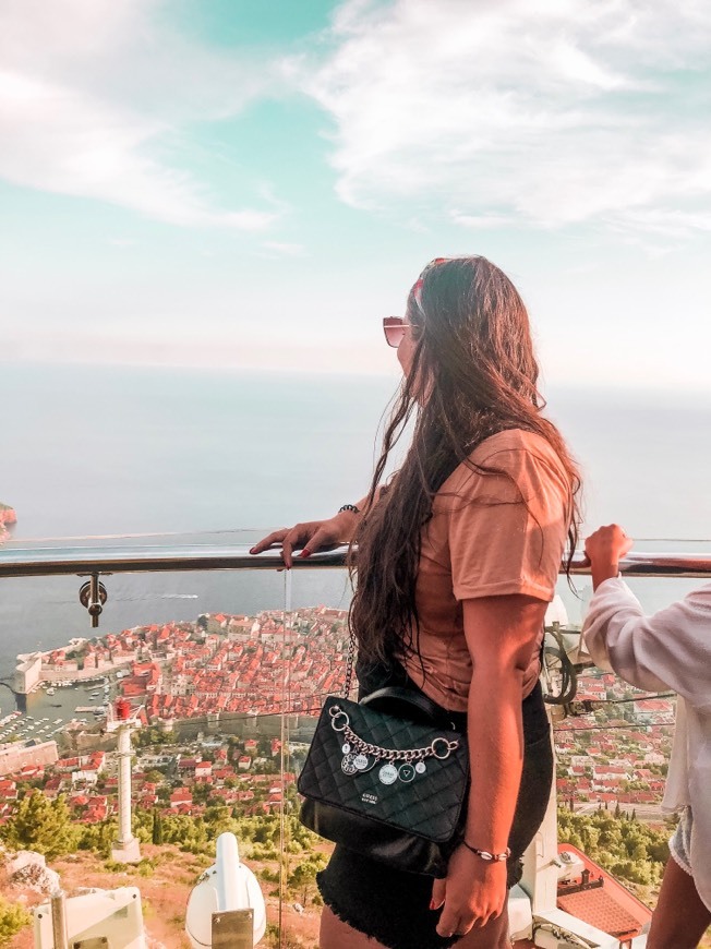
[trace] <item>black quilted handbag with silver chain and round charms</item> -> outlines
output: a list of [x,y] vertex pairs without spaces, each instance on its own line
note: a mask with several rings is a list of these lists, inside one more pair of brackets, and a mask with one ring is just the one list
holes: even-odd
[[434,702],[382,688],[329,696],[297,784],[311,830],[397,869],[445,876],[463,837],[467,736]]

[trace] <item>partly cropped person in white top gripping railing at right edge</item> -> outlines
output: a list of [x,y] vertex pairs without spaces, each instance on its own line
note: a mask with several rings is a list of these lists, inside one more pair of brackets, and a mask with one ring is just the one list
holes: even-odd
[[680,819],[647,946],[692,949],[711,924],[711,584],[647,616],[618,576],[631,545],[614,524],[586,541],[594,593],[583,647],[631,685],[677,694],[662,807],[680,810]]

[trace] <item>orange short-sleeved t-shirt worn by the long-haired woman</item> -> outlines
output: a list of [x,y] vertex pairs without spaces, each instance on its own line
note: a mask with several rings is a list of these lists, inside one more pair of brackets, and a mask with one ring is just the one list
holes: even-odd
[[[422,532],[417,579],[420,657],[401,661],[434,701],[466,711],[472,660],[462,601],[523,593],[550,602],[569,520],[565,469],[545,439],[510,429],[486,439],[444,482]],[[523,696],[540,674],[539,637],[523,678]],[[424,677],[423,677],[424,669]]]

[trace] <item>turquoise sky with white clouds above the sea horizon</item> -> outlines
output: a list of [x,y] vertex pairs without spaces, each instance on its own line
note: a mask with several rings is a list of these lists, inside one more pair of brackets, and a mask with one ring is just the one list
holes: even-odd
[[0,0],[0,360],[396,372],[435,256],[546,385],[711,396],[708,0]]

